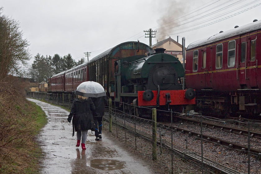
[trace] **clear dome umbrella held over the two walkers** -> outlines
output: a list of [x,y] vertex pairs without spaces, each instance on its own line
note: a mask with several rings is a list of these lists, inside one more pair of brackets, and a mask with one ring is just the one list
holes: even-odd
[[103,86],[94,81],[82,82],[74,92],[83,97],[101,97],[106,96]]

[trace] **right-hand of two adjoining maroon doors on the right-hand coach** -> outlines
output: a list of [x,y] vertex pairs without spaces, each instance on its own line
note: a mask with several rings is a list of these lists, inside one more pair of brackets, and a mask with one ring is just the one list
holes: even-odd
[[251,88],[257,88],[256,71],[257,71],[257,59],[256,59],[256,39],[257,31],[250,33],[247,43],[247,68],[246,68],[246,82]]

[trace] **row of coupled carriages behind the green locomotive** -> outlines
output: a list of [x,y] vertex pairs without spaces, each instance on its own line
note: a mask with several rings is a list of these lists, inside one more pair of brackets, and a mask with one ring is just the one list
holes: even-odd
[[114,61],[123,57],[151,54],[154,50],[136,41],[124,42],[108,49],[79,66],[63,71],[49,79],[49,88],[55,93],[73,93],[84,81],[100,83],[110,98],[115,94]]

